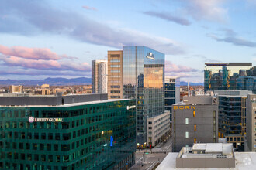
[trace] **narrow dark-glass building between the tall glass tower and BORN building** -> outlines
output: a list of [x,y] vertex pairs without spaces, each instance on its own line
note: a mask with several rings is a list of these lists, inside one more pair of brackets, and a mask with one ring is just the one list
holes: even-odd
[[[171,105],[180,102],[180,77],[165,76],[164,78],[164,110],[171,113]],[[171,121],[171,114],[170,114]]]

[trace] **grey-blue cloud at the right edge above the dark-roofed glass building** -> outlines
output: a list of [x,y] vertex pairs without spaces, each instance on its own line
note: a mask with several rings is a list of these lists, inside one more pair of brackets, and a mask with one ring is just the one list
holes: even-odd
[[215,39],[218,42],[227,42],[233,44],[234,46],[256,47],[256,42],[238,37],[237,33],[232,29],[223,29],[222,32],[225,34],[222,38],[220,36],[216,36],[215,34],[209,34],[207,36]]

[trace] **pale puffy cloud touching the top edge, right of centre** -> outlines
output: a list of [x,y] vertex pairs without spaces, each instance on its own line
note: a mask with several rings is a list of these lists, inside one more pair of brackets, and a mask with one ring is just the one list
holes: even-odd
[[223,3],[227,0],[182,0],[185,2],[185,12],[196,20],[223,22],[227,19],[227,9]]

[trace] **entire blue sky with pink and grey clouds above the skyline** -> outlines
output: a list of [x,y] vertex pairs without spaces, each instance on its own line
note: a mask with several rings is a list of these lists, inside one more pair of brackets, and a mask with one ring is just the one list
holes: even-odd
[[91,77],[108,50],[148,46],[202,83],[205,63],[256,65],[255,29],[255,0],[1,0],[0,80]]

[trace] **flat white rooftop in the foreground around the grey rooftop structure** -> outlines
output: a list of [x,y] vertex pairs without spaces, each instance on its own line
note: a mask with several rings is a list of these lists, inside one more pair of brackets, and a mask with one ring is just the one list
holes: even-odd
[[235,152],[236,168],[176,168],[176,158],[178,152],[170,152],[158,165],[157,170],[252,170],[256,169],[256,152]]

